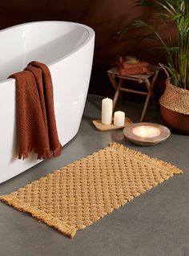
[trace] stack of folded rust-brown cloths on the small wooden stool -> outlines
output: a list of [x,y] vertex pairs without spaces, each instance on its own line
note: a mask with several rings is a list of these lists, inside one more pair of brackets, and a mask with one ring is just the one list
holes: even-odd
[[125,61],[122,57],[119,57],[115,61],[115,67],[118,69],[120,75],[150,75],[150,66],[147,62],[135,60],[135,62],[129,63],[129,61]]

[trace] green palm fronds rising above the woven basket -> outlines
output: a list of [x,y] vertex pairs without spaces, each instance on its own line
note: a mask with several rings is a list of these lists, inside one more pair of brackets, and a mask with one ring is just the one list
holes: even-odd
[[[167,71],[179,87],[189,90],[189,1],[188,0],[135,0],[135,7],[147,6],[153,11],[152,19],[144,21],[135,19],[131,26],[121,30],[119,35],[127,35],[131,28],[146,28],[144,35],[138,35],[140,39],[159,40],[167,56]],[[159,34],[159,25],[171,21],[175,24],[177,32],[176,43],[173,45],[171,37],[163,39]]]

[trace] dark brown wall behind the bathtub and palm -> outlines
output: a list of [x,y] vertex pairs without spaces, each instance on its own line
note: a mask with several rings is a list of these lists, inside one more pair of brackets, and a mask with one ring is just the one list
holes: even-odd
[[[163,55],[149,51],[157,46],[156,42],[139,42],[128,34],[121,42],[117,32],[131,23],[133,18],[149,16],[150,12],[134,8],[134,0],[2,0],[0,2],[0,28],[22,22],[38,20],[64,20],[81,22],[91,26],[96,35],[94,65],[90,79],[90,92],[112,96],[114,90],[107,79],[107,68],[111,67],[116,55],[136,55],[152,64],[163,61]],[[165,30],[172,30],[171,26]],[[163,79],[159,76],[155,92],[159,96],[163,91]],[[161,86],[159,86],[161,85]]]

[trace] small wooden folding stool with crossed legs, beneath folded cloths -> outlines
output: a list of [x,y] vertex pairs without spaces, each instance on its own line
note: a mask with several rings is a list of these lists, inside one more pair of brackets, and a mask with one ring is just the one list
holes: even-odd
[[[120,75],[119,71],[115,67],[113,67],[113,68],[111,68],[110,70],[107,71],[109,79],[111,80],[111,83],[112,83],[113,87],[115,88],[115,96],[114,96],[114,100],[113,100],[113,109],[115,109],[115,104],[117,103],[117,100],[119,98],[120,91],[127,91],[127,92],[137,93],[137,94],[140,94],[140,95],[147,95],[147,99],[146,99],[144,107],[143,107],[143,112],[142,112],[142,115],[140,117],[140,122],[143,122],[143,118],[144,118],[144,116],[147,112],[147,106],[149,104],[150,98],[153,101],[153,103],[155,104],[155,107],[157,108],[157,106],[158,106],[157,100],[155,99],[155,95],[154,95],[152,89],[155,85],[155,80],[158,77],[160,67],[157,67],[157,66],[150,66],[150,67],[151,67],[150,75]],[[118,83],[116,82],[117,78],[119,79]],[[151,83],[149,81],[149,78],[152,78]],[[136,81],[138,83],[145,83],[145,85],[147,87],[147,92],[146,91],[132,90],[132,89],[128,89],[126,87],[122,87],[124,79],[133,80],[133,81]]]

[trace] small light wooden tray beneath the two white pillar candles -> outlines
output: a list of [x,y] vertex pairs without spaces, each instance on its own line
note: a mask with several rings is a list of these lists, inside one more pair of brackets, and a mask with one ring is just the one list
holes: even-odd
[[121,128],[126,127],[129,124],[132,124],[132,121],[128,117],[126,117],[125,124],[123,126],[115,126],[113,119],[112,119],[112,124],[102,124],[100,119],[93,120],[92,122],[93,122],[95,128],[97,128],[101,132],[121,129]]

